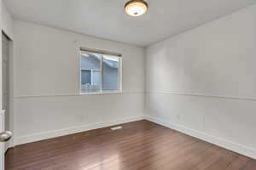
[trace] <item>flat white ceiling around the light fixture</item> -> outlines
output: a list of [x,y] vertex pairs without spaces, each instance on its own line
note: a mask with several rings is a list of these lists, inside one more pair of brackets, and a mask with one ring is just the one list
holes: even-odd
[[147,46],[215,20],[255,0],[150,0],[148,13],[125,14],[125,0],[3,0],[15,19]]

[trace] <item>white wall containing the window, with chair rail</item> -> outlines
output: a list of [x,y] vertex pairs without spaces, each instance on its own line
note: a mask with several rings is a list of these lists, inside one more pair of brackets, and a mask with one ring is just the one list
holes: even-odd
[[[79,95],[79,47],[123,54],[123,94]],[[15,144],[140,119],[144,48],[15,21]]]

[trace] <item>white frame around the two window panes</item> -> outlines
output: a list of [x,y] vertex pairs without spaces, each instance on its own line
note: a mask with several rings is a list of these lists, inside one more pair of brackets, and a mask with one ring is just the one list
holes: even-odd
[[[107,54],[112,55],[115,57],[119,57],[119,90],[113,90],[113,91],[103,91],[102,90],[102,81],[101,81],[101,89],[99,92],[82,92],[82,75],[81,75],[81,52],[85,51],[88,53],[96,53],[96,54]],[[101,58],[101,70],[102,70],[102,58]],[[122,62],[122,54],[104,51],[104,50],[98,50],[93,48],[79,48],[79,94],[121,94],[122,93],[122,87],[123,87],[123,62]]]

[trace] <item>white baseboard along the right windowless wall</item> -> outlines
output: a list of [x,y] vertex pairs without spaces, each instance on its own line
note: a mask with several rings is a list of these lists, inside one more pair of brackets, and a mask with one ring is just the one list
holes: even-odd
[[181,125],[166,122],[164,120],[160,120],[159,118],[156,118],[156,117],[153,117],[153,116],[148,116],[147,115],[147,116],[145,116],[145,119],[150,121],[150,122],[154,122],[154,123],[160,124],[162,126],[175,129],[179,132],[186,133],[190,136],[193,136],[193,137],[198,138],[198,139],[202,139],[202,140],[207,141],[209,143],[216,144],[216,145],[221,146],[225,149],[235,151],[237,153],[240,153],[241,155],[252,157],[253,159],[256,159],[256,150],[254,148],[247,147],[246,145],[237,144],[235,142],[232,142],[232,141],[229,141],[229,140],[226,140],[226,139],[222,139],[222,138],[218,138],[218,137],[209,135],[207,133],[203,133],[203,132],[197,131],[195,129],[191,129],[189,127],[184,127],[184,126],[181,126]]

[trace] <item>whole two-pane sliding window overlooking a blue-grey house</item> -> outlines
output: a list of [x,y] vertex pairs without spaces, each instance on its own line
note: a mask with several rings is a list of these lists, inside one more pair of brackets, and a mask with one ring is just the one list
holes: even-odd
[[80,89],[82,94],[121,91],[121,54],[80,49]]

